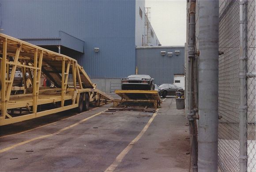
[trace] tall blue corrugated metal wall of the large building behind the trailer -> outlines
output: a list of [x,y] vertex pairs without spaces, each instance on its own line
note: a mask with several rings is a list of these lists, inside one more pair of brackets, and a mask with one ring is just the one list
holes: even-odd
[[[17,38],[85,41],[77,60],[91,77],[125,77],[135,71],[135,0],[0,0],[2,33]],[[100,48],[99,53],[93,51]]]

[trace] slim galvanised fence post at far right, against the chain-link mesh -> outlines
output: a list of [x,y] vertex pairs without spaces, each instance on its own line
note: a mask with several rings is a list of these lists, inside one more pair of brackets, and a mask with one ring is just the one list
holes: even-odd
[[239,0],[239,26],[240,26],[240,57],[239,57],[239,90],[240,90],[240,107],[239,107],[239,167],[240,172],[247,172],[247,94],[246,94],[246,60],[247,60],[247,25],[246,25],[246,0]]

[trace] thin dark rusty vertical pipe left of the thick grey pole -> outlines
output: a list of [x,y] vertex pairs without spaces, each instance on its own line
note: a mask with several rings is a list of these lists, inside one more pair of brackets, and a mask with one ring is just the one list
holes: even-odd
[[189,7],[189,27],[188,27],[188,120],[190,124],[190,143],[191,143],[191,156],[192,156],[192,171],[197,172],[197,130],[196,118],[193,116],[193,109],[195,103],[193,101],[193,61],[196,58],[196,0],[190,1]]

